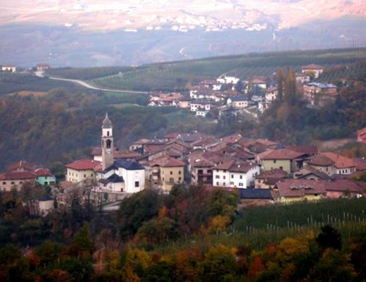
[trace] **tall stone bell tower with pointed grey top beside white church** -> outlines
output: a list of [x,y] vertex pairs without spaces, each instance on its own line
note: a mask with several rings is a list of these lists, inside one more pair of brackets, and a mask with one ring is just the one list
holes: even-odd
[[108,113],[101,125],[101,166],[105,170],[113,164],[113,126]]

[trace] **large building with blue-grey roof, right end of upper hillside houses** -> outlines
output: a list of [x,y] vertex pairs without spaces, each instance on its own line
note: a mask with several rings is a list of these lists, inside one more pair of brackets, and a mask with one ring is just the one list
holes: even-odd
[[336,85],[309,82],[303,85],[303,97],[312,105],[324,106],[336,99]]

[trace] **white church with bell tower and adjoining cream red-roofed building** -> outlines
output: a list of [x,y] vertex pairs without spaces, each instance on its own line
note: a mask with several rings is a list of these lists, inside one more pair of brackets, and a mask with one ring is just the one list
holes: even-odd
[[[99,159],[96,159],[99,158]],[[85,173],[86,166],[79,164],[90,164],[87,169],[94,171]],[[123,192],[135,193],[144,190],[145,169],[136,161],[115,158],[115,147],[113,141],[113,125],[106,113],[101,126],[101,156],[94,159],[84,159],[67,164],[66,180],[80,182],[83,179],[75,176],[93,177],[99,183],[99,192]],[[72,178],[74,177],[74,178]]]

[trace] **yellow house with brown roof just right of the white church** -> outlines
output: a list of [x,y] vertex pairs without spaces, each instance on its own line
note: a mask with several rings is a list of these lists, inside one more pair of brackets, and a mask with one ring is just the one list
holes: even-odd
[[164,156],[151,163],[151,178],[161,185],[163,190],[170,191],[175,184],[184,183],[186,163],[172,157]]

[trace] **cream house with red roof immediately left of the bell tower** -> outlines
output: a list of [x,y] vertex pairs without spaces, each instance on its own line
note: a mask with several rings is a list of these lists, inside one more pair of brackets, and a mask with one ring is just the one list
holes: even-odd
[[95,178],[98,166],[101,166],[101,162],[94,159],[79,159],[71,164],[65,164],[65,180],[80,183],[87,178]]

